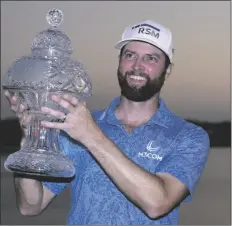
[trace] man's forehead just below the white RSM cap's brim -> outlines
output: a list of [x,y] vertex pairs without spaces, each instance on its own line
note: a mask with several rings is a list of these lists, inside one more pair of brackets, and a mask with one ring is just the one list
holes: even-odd
[[125,45],[124,51],[130,50],[138,54],[152,54],[157,53],[160,55],[164,55],[163,52],[154,45],[151,45],[146,42],[141,41],[131,41]]

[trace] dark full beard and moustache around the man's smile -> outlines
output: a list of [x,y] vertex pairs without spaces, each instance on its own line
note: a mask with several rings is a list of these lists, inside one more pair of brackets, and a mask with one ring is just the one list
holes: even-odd
[[[126,97],[128,100],[134,102],[142,102],[151,99],[154,95],[160,92],[164,81],[165,81],[165,72],[163,72],[159,77],[151,80],[150,77],[143,72],[136,70],[128,71],[123,74],[118,69],[118,82],[121,88],[121,94]],[[132,86],[127,82],[127,77],[130,75],[137,75],[144,77],[147,81],[143,86]]]

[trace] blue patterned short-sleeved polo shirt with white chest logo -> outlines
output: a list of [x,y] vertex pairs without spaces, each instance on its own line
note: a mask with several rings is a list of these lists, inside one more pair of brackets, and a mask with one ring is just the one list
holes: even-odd
[[[94,112],[96,123],[140,167],[152,174],[169,173],[183,182],[190,191],[184,202],[189,201],[210,149],[207,133],[174,115],[162,99],[146,124],[127,133],[114,114],[119,101],[117,97],[107,109]],[[76,166],[68,224],[178,224],[179,207],[160,219],[150,219],[118,190],[84,146],[66,135],[61,137],[61,146]],[[67,186],[44,185],[56,195]]]

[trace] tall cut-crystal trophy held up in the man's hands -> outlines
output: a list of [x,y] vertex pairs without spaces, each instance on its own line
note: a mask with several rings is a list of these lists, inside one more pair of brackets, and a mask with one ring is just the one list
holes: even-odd
[[4,76],[3,89],[17,97],[17,109],[23,104],[31,118],[25,142],[7,157],[4,167],[20,174],[70,178],[76,173],[75,167],[61,150],[60,131],[40,124],[42,120],[62,121],[42,113],[41,107],[67,113],[51,95],[71,94],[86,101],[92,95],[92,85],[84,66],[71,59],[70,39],[58,29],[62,11],[52,9],[46,19],[50,27],[35,36],[30,55],[16,60]]

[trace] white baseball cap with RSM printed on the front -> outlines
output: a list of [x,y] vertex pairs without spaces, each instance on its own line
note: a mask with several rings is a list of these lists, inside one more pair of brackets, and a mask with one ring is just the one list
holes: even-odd
[[124,45],[133,40],[144,41],[158,47],[167,54],[172,63],[172,33],[163,25],[152,20],[146,20],[129,26],[124,30],[122,39],[117,42],[115,48],[120,50]]

